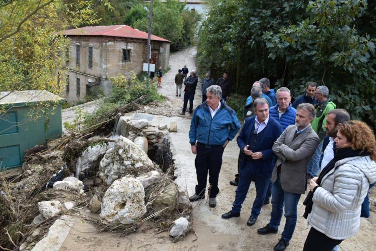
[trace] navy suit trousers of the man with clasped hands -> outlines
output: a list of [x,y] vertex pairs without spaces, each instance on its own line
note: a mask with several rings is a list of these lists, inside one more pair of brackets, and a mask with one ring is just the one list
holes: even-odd
[[254,168],[251,168],[250,166],[247,167],[246,165],[239,169],[239,184],[235,191],[235,201],[231,210],[233,213],[240,212],[242,204],[246,199],[249,186],[251,185],[251,181],[254,179],[256,186],[256,198],[253,202],[251,214],[255,217],[260,214],[261,207],[264,205],[265,195],[268,190],[271,176],[263,177],[256,175],[253,169]]

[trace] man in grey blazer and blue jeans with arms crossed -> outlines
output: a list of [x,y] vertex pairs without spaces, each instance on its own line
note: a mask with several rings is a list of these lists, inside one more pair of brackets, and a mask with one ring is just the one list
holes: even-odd
[[319,138],[310,124],[315,112],[312,104],[298,105],[295,125],[288,126],[273,145],[278,159],[272,174],[272,215],[269,224],[257,232],[277,233],[284,207],[285,228],[274,250],[286,249],[295,230],[297,205],[307,187],[307,164],[319,144]]

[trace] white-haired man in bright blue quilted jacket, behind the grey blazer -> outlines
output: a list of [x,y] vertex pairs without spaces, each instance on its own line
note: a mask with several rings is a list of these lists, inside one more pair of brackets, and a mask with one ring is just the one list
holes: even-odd
[[[271,117],[279,122],[282,132],[291,124],[295,124],[296,109],[291,105],[291,93],[288,88],[281,87],[277,90],[277,104],[270,107],[269,113]],[[272,189],[273,182],[270,181],[264,205],[270,203]]]

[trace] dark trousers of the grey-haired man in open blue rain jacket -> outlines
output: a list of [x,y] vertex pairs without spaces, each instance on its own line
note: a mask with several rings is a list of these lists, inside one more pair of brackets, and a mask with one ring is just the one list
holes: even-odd
[[195,167],[197,174],[196,194],[204,195],[208,172],[209,183],[212,185],[210,189],[210,198],[217,197],[219,193],[218,178],[222,166],[222,155],[224,148],[222,146],[207,146],[197,143],[197,155],[195,159]]

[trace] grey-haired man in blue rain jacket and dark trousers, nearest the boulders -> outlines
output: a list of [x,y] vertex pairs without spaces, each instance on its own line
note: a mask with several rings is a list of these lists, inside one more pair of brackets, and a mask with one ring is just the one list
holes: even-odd
[[240,129],[236,112],[222,99],[222,90],[218,85],[207,88],[207,100],[199,105],[191,120],[189,133],[192,153],[197,154],[195,167],[197,185],[190,201],[205,197],[207,178],[211,184],[209,206],[217,205],[219,193],[218,178],[222,166],[222,155],[227,144],[234,139]]

